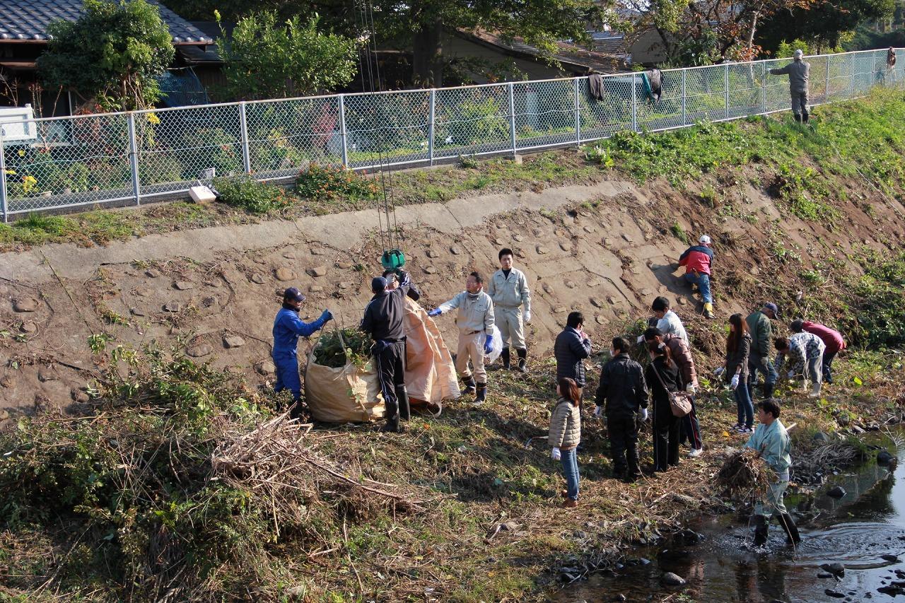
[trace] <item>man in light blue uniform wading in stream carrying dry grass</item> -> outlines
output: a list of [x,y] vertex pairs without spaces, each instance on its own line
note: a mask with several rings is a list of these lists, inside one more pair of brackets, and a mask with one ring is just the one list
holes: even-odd
[[788,537],[787,542],[801,542],[798,528],[783,503],[783,494],[789,485],[789,466],[792,464],[789,450],[792,444],[786,427],[779,420],[779,405],[776,401],[764,400],[757,405],[757,429],[748,438],[745,447],[757,451],[757,455],[776,472],[777,478],[776,483],[770,484],[767,493],[755,505],[754,545],[759,547],[767,542],[767,529],[774,517],[779,518],[779,525]]

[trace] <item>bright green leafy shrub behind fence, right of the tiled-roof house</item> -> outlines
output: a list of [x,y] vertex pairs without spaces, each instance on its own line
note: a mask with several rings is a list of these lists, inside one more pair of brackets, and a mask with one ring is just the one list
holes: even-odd
[[225,62],[227,93],[277,99],[329,91],[352,81],[356,41],[320,32],[319,21],[317,14],[304,23],[296,15],[278,24],[277,14],[268,11],[246,16],[231,34],[224,32],[217,48]]

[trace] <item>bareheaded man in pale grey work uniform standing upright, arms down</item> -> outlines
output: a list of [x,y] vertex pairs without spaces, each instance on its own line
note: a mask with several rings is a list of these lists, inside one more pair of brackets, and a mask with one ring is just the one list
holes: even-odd
[[494,319],[503,339],[503,369],[510,369],[511,345],[519,355],[519,371],[524,373],[528,357],[525,325],[531,321],[531,292],[525,274],[512,267],[512,255],[511,249],[500,249],[500,270],[491,276],[487,294],[493,300]]

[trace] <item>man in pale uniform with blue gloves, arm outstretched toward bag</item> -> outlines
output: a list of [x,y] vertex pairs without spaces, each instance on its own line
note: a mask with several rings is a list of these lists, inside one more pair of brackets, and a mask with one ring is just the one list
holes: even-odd
[[[471,273],[465,280],[465,291],[449,302],[443,302],[428,316],[439,316],[443,312],[459,309],[456,326],[459,328],[459,349],[456,352],[455,368],[465,393],[474,394],[474,404],[487,399],[487,371],[484,369],[484,355],[493,349],[493,300],[484,292],[484,280],[479,273]],[[485,337],[486,335],[486,337]],[[472,369],[468,361],[472,361]]]

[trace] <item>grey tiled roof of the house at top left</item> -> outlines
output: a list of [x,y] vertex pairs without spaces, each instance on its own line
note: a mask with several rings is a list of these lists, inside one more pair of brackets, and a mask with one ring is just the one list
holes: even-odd
[[[213,39],[156,0],[160,18],[173,36],[173,43],[213,43]],[[82,0],[0,0],[0,43],[5,40],[45,42],[47,25],[58,19],[75,21],[82,13]]]

